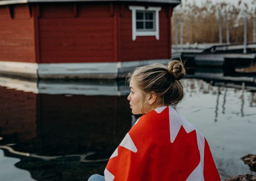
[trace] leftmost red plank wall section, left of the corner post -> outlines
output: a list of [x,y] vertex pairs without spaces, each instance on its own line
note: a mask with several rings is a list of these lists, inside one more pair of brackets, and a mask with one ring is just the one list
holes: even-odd
[[0,61],[34,63],[33,30],[28,4],[0,6]]

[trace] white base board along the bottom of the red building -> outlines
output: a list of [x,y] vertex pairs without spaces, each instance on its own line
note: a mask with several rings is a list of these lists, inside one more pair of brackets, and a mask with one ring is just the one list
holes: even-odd
[[167,64],[170,59],[109,63],[21,63],[0,61],[0,73],[41,79],[116,79],[135,67],[152,63]]

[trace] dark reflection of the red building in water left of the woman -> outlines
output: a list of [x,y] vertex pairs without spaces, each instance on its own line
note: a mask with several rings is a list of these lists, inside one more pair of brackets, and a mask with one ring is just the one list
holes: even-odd
[[[16,166],[29,170],[37,180],[63,179],[67,170],[67,177],[75,180],[102,173],[136,119],[131,117],[125,85],[118,88],[116,81],[37,86],[37,82],[1,78],[0,83],[24,88],[0,87],[0,148],[5,156],[20,158]],[[57,94],[61,88],[62,94]]]

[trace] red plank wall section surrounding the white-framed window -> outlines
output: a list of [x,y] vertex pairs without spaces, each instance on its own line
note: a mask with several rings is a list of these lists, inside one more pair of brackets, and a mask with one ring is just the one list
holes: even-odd
[[124,5],[120,19],[121,62],[170,58],[167,8],[162,7],[159,12],[159,40],[155,36],[137,36],[135,41],[132,40],[132,18],[129,5]]

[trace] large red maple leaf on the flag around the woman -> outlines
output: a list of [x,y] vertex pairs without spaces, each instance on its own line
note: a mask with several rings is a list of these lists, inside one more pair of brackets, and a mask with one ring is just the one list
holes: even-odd
[[180,125],[171,142],[170,123],[169,109],[143,115],[110,157],[111,180],[185,181],[200,162],[196,130]]

